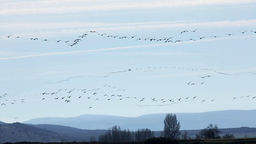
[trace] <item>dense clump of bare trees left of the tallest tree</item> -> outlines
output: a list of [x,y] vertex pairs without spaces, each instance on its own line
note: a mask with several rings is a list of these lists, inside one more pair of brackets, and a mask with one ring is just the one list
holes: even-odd
[[120,126],[112,126],[107,132],[101,134],[98,141],[104,142],[130,142],[130,141],[144,141],[148,138],[154,137],[155,134],[148,128],[138,128],[138,130],[130,131],[129,129],[121,129]]

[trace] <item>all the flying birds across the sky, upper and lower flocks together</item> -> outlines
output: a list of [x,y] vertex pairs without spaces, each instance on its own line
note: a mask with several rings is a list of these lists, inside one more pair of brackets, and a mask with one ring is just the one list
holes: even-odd
[[[180,34],[185,34],[187,32],[196,32],[198,29],[196,30],[184,30],[182,32],[180,32]],[[253,32],[256,34],[255,31],[240,31],[241,34],[244,34],[246,32]],[[164,43],[176,43],[176,42],[183,42],[185,40],[173,40],[173,37],[163,37],[163,38],[139,38],[137,35],[134,36],[119,36],[119,35],[107,35],[107,34],[99,34],[96,31],[88,31],[85,34],[82,34],[80,36],[78,36],[78,38],[75,38],[74,40],[55,40],[57,43],[60,42],[65,42],[66,44],[68,44],[69,46],[74,46],[76,44],[79,44],[79,42],[82,41],[83,38],[90,36],[89,34],[96,34],[98,36],[101,36],[102,38],[116,38],[116,39],[134,39],[135,41],[155,41],[155,42],[164,42]],[[225,35],[231,36],[234,35],[235,33],[231,33],[231,34],[227,34],[225,33]],[[211,38],[220,38],[220,36],[209,36]],[[6,36],[6,38],[14,38],[14,39],[20,39],[22,37],[20,36]],[[189,38],[186,39],[186,41],[196,41],[196,40],[201,40],[204,38],[207,38],[207,36],[196,36],[197,39],[195,38]],[[36,40],[40,40],[38,38],[30,38],[30,40],[36,41]],[[50,41],[49,39],[43,39],[41,40],[42,42],[46,42],[46,41]],[[74,78],[82,78],[82,77],[97,77],[97,78],[106,78],[109,77],[113,74],[117,74],[117,73],[126,73],[126,72],[135,72],[135,71],[142,71],[142,72],[152,72],[154,70],[160,70],[160,69],[180,69],[180,70],[192,70],[192,71],[196,71],[196,70],[203,70],[203,71],[211,71],[212,73],[215,74],[223,74],[223,75],[238,75],[238,74],[255,74],[255,72],[242,72],[242,73],[235,73],[235,74],[229,74],[229,73],[224,73],[224,72],[219,72],[216,70],[212,70],[212,69],[207,69],[207,68],[182,68],[182,67],[147,67],[147,68],[134,68],[134,69],[128,69],[128,70],[122,70],[122,71],[117,71],[117,72],[110,72],[108,74],[106,74],[105,76],[93,76],[93,75],[84,75],[84,76],[74,76],[74,77],[68,77],[65,80],[60,80],[58,82],[46,82],[46,83],[52,83],[52,84],[57,84],[60,82],[67,82],[71,79]],[[212,75],[206,75],[206,76],[198,76],[198,78],[200,78],[201,82],[184,82],[184,85],[203,85],[206,83],[206,79],[212,77]],[[108,90],[106,90],[106,88]],[[143,96],[127,96],[126,94],[126,89],[124,88],[117,88],[114,86],[110,86],[110,85],[103,85],[102,88],[94,88],[94,89],[70,89],[70,88],[62,88],[62,89],[58,89],[56,91],[53,92],[41,92],[35,95],[30,95],[33,98],[37,98],[36,100],[41,100],[41,101],[47,101],[47,100],[61,100],[62,102],[65,103],[71,103],[73,101],[75,101],[74,99],[84,99],[84,100],[106,100],[106,101],[111,101],[111,100],[120,100],[120,101],[124,101],[124,100],[130,100],[130,99],[134,99],[137,102],[143,103],[143,102],[151,102],[153,104],[150,105],[136,105],[139,107],[144,107],[144,106],[169,106],[172,104],[178,104],[181,102],[191,102],[191,101],[200,101],[200,102],[213,102],[214,99],[211,100],[204,100],[204,99],[198,99],[196,96],[188,96],[188,97],[172,97],[172,98],[147,98],[147,97],[143,97]],[[36,97],[35,97],[36,96]],[[40,98],[40,99],[39,99]],[[236,100],[238,98],[251,98],[251,99],[255,99],[256,100],[256,96],[240,96],[240,97],[234,97],[233,100]],[[31,98],[28,98],[31,99]],[[9,94],[2,94],[0,95],[0,104],[1,106],[6,106],[6,105],[12,105],[12,104],[16,104],[17,102],[30,102],[30,100],[27,100],[27,96],[18,96],[18,98],[16,97],[16,99],[13,98],[13,96],[9,95]],[[33,100],[34,101],[34,100]],[[88,109],[93,108],[92,106],[88,106]],[[12,117],[11,118],[20,118],[20,117]],[[111,124],[111,123],[108,123]]]

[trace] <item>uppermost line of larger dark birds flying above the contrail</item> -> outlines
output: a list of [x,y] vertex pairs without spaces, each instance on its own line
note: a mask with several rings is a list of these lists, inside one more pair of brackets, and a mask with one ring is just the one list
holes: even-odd
[[[187,32],[196,32],[198,29],[196,29],[196,30],[190,30],[190,31],[188,31],[188,30],[184,30],[184,31],[182,31],[182,32],[180,32],[180,34],[185,34],[185,33],[187,33]],[[245,32],[253,32],[253,33],[255,33],[256,34],[256,31],[252,31],[252,30],[250,30],[250,31],[239,31],[241,34],[244,34]],[[150,38],[150,37],[148,37],[148,38],[138,38],[138,36],[137,35],[134,35],[134,36],[119,36],[119,35],[107,35],[106,33],[104,33],[104,34],[99,34],[98,32],[96,32],[96,31],[88,31],[88,32],[85,32],[84,34],[82,34],[82,35],[80,35],[80,36],[78,36],[77,38],[74,38],[74,40],[56,40],[56,39],[54,39],[54,41],[56,41],[57,43],[60,43],[60,42],[65,42],[67,45],[69,45],[69,46],[75,46],[75,45],[77,45],[77,44],[79,44],[79,42],[81,42],[82,41],[82,39],[84,38],[84,37],[88,37],[88,36],[90,36],[89,34],[96,34],[96,35],[98,35],[98,36],[101,36],[102,38],[116,38],[116,39],[134,39],[135,41],[150,41],[150,42],[153,42],[153,41],[155,41],[155,42],[164,42],[164,43],[176,43],[176,42],[183,42],[183,41],[196,41],[196,40],[202,40],[202,39],[204,39],[204,38],[207,38],[207,36],[197,36],[196,35],[196,38],[188,38],[188,39],[185,39],[185,40],[173,40],[173,37],[163,37],[163,38]],[[234,35],[235,33],[231,33],[231,34],[228,34],[228,33],[224,33],[225,35],[227,35],[227,36],[231,36],[231,35]],[[9,36],[5,36],[6,38],[12,38],[13,36],[12,36],[12,34],[11,35],[9,35]],[[220,38],[220,36],[208,36],[208,37],[210,37],[210,38]],[[20,38],[22,38],[22,37],[20,37],[20,36],[14,36],[14,39],[20,39]],[[30,38],[30,40],[40,40],[39,38]],[[42,42],[46,42],[46,41],[50,41],[49,39],[42,39],[42,40],[40,40],[40,41],[42,41]]]

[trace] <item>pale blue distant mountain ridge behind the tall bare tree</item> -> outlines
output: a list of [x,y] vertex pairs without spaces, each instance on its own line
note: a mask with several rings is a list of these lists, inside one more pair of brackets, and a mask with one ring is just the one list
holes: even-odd
[[[96,130],[118,125],[122,129],[136,130],[150,128],[160,131],[164,128],[166,114],[146,114],[139,117],[122,117],[85,114],[74,118],[36,118],[25,124],[55,124],[80,129]],[[198,130],[208,124],[218,124],[219,128],[256,127],[256,110],[223,110],[202,113],[176,113],[181,130]]]

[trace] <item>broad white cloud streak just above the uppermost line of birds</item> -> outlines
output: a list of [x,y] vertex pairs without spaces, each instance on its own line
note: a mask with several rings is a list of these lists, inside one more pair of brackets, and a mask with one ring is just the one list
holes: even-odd
[[[22,38],[50,37],[61,34],[82,34],[89,30],[98,32],[130,32],[131,30],[152,30],[152,29],[170,29],[170,28],[220,28],[220,27],[239,27],[256,26],[256,19],[236,20],[236,21],[217,21],[217,22],[136,22],[136,23],[90,23],[90,22],[63,22],[63,23],[19,23],[19,24],[0,24],[0,27],[10,32],[22,31],[13,35],[22,36]],[[58,30],[56,30],[58,28]],[[24,31],[24,32],[23,32]],[[2,36],[4,37],[4,36]]]

